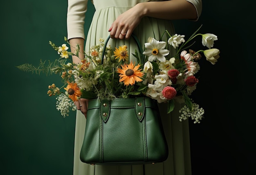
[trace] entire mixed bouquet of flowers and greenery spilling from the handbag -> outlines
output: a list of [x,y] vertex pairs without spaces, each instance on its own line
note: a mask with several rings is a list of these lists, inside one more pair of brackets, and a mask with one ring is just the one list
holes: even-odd
[[[170,113],[174,109],[174,100],[182,97],[184,107],[180,109],[180,121],[191,118],[194,123],[200,123],[204,109],[194,103],[189,96],[196,89],[199,82],[195,74],[200,70],[198,60],[202,55],[212,64],[219,58],[220,50],[212,48],[217,36],[211,33],[198,33],[196,30],[189,39],[184,35],[170,35],[168,42],[149,37],[144,44],[142,53],[132,53],[137,58],[137,63],[129,61],[127,46],[115,47],[112,50],[107,41],[100,38],[99,44],[92,46],[81,63],[73,63],[71,56],[79,56],[79,45],[76,52],[69,52],[67,44],[56,46],[51,41],[49,44],[60,55],[54,62],[40,60],[38,67],[25,63],[17,66],[20,70],[40,74],[59,73],[63,80],[61,88],[55,84],[49,85],[47,94],[56,97],[56,108],[61,111],[63,117],[68,116],[70,109],[76,110],[74,101],[79,98],[133,98],[135,96],[147,96],[157,100],[158,103],[168,103]],[[163,34],[164,35],[164,34]],[[163,36],[162,35],[162,36]],[[194,51],[189,49],[197,37],[202,37],[202,45],[207,50]],[[168,58],[170,53],[167,45],[177,50],[174,57]],[[187,46],[188,45],[188,46]],[[189,49],[189,50],[186,50]],[[48,63],[46,65],[46,63]],[[61,91],[61,89],[65,91]]]

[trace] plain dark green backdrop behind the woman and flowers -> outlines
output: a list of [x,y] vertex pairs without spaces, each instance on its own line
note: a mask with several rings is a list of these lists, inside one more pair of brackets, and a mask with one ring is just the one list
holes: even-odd
[[[254,7],[249,0],[204,0],[198,22],[175,21],[177,33],[187,36],[203,24],[201,33],[217,35],[215,47],[221,51],[216,65],[200,61],[193,98],[205,118],[190,125],[193,175],[253,174]],[[48,85],[61,86],[59,76],[15,67],[58,58],[48,42],[63,43],[66,13],[66,0],[1,2],[0,174],[72,175],[75,112],[63,118],[55,98],[47,96]],[[91,18],[87,13],[86,31]]]

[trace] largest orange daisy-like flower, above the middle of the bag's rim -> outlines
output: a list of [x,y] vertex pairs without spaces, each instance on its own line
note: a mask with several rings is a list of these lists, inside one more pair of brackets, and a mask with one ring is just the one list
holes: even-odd
[[139,69],[139,64],[135,66],[135,64],[130,63],[121,66],[122,69],[117,68],[117,73],[119,73],[119,77],[121,77],[119,82],[124,81],[124,85],[134,85],[135,81],[142,81],[140,78],[143,77],[144,72],[140,72],[141,69]]

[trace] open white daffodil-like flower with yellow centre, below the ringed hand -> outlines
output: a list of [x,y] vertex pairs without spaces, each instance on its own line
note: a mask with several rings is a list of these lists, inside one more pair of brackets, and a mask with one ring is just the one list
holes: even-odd
[[148,61],[155,61],[158,59],[161,62],[164,62],[166,58],[164,56],[170,53],[169,50],[165,49],[166,42],[159,42],[155,38],[151,39],[151,42],[145,43],[144,55],[148,56]]

